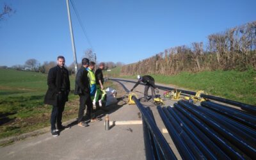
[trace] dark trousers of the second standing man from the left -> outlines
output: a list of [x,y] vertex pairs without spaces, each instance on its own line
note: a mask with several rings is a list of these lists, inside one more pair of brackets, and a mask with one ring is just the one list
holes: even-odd
[[79,95],[79,97],[80,97],[80,105],[79,105],[78,119],[77,119],[78,123],[83,120],[85,106],[87,106],[86,116],[88,117],[88,119],[91,118],[92,106],[93,106],[89,93],[83,94],[83,95],[81,94],[81,95]]

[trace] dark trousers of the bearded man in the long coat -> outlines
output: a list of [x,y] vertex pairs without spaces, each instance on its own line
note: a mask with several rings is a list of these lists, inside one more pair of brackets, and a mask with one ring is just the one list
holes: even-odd
[[57,106],[52,106],[51,130],[61,127],[62,113],[65,107],[65,93],[58,94]]

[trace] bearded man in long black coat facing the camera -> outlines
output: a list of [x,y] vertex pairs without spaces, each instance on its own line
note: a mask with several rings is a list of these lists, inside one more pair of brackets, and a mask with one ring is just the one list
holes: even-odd
[[52,67],[49,70],[47,77],[48,90],[44,99],[45,104],[52,105],[52,136],[58,136],[60,130],[70,128],[61,124],[65,102],[68,101],[68,93],[70,92],[69,74],[68,70],[64,67],[65,58],[63,56],[58,56],[57,63],[56,67]]

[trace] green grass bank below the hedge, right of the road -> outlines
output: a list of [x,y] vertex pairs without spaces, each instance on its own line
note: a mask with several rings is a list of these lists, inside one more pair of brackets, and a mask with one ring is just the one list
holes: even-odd
[[[120,71],[119,68],[118,70]],[[118,70],[115,70],[113,75],[118,75]],[[187,88],[191,91],[204,90],[210,95],[256,105],[256,70],[253,69],[245,72],[216,70],[196,74],[182,72],[175,76],[151,76],[156,83],[174,84],[177,88]],[[135,75],[122,77],[136,79]]]

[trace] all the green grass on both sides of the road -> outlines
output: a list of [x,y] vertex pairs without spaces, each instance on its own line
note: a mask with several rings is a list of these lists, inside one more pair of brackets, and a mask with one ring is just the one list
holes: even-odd
[[[120,68],[104,72],[108,77],[119,77]],[[175,84],[191,91],[205,92],[246,104],[256,105],[256,71],[221,71],[180,73],[176,76],[152,75],[157,83]],[[128,78],[136,79],[136,76]],[[74,90],[74,76],[70,76],[71,90]],[[111,82],[105,87],[113,87]],[[177,87],[177,88],[179,88]],[[0,138],[19,135],[49,126],[51,106],[43,103],[47,90],[47,75],[0,69]],[[69,95],[63,121],[76,118],[78,97]]]

